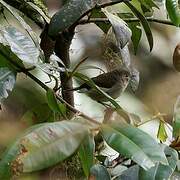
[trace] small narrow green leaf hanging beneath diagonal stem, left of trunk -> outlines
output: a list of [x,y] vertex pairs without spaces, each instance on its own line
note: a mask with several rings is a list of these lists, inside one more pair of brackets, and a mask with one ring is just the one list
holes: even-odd
[[64,104],[57,101],[54,91],[52,89],[49,88],[47,90],[46,97],[47,97],[48,105],[51,108],[51,110],[65,116],[66,107],[64,106]]

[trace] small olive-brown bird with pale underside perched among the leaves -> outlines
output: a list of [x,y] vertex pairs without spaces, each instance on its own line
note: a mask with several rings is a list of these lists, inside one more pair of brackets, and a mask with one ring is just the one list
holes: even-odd
[[[129,69],[125,67],[120,67],[91,78],[95,85],[114,99],[118,98],[121,93],[124,92],[130,79],[131,73]],[[91,99],[98,102],[108,101],[106,96],[98,92],[95,88],[92,88],[86,82],[71,90],[77,91],[78,93],[86,93]]]

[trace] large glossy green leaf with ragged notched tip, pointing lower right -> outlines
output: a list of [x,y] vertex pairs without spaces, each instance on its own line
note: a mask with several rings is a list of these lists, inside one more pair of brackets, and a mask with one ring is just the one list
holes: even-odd
[[128,124],[114,123],[103,125],[104,140],[120,154],[131,158],[145,170],[153,167],[154,162],[167,164],[162,148],[147,133]]

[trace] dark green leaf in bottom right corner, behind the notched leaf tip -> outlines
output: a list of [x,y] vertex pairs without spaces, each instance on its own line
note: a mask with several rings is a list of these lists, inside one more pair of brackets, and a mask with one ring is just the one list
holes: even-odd
[[149,169],[148,171],[140,168],[140,178],[145,180],[169,179],[176,168],[178,153],[174,149],[166,146],[165,154],[167,155],[169,165],[157,163],[155,167]]

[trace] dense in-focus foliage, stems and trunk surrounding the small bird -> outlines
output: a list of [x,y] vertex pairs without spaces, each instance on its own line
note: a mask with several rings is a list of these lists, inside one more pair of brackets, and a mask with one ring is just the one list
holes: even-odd
[[[159,3],[166,6],[164,11],[167,11],[169,20],[153,18],[154,9],[158,9]],[[165,126],[170,125],[159,118],[157,142],[138,128],[141,119],[136,123],[135,114],[123,110],[115,99],[89,77],[78,72],[86,58],[71,68],[69,47],[78,25],[96,24],[107,36],[114,36],[115,41],[112,43],[118,52],[115,53],[113,66],[123,64],[132,70],[130,85],[136,90],[139,72],[131,63],[128,43],[132,41],[136,54],[144,31],[151,51],[154,42],[149,22],[179,27],[179,1],[69,0],[52,18],[48,16],[42,0],[0,0],[0,5],[3,14],[1,18],[9,13],[21,26],[0,26],[0,100],[8,97],[16,76],[24,73],[46,91],[51,113],[44,120],[46,122],[32,125],[7,148],[0,160],[0,179],[42,170],[72,156],[78,156],[84,177],[90,179],[160,180],[169,179],[178,171],[180,100],[177,100],[174,110],[174,141],[169,146],[165,145]],[[117,12],[108,9],[113,5],[117,5]],[[27,18],[41,29],[40,41]],[[174,57],[174,64],[178,65],[180,55]],[[45,72],[54,81],[54,88],[33,75],[31,71],[34,69]],[[74,107],[73,92],[65,91],[72,88],[72,78],[86,82],[107,98],[109,111],[105,113],[102,123]],[[43,108],[46,111],[46,107]],[[112,116],[116,117],[115,121]],[[104,144],[119,153],[117,159],[108,162],[108,157],[101,155]],[[113,173],[117,168],[118,171]]]

